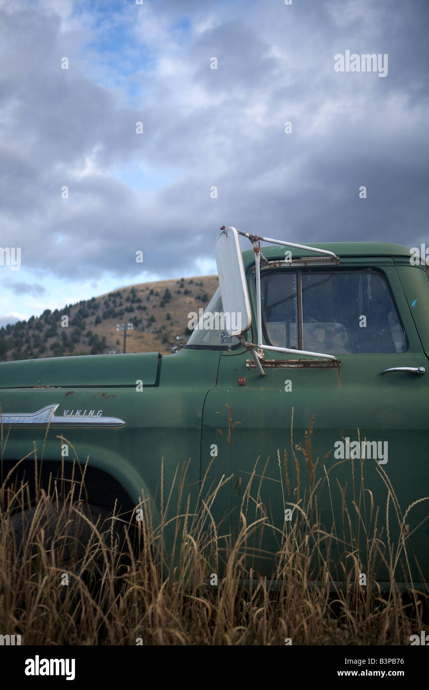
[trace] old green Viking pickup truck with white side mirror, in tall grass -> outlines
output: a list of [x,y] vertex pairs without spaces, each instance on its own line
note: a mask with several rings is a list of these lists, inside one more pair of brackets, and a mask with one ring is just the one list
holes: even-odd
[[[241,252],[240,235],[250,250]],[[344,500],[355,519],[353,502],[362,501],[362,510],[371,499],[381,506],[386,534],[391,485],[401,513],[389,538],[418,556],[413,580],[428,579],[428,503],[406,513],[429,493],[424,264],[410,262],[410,250],[397,244],[308,247],[225,227],[216,257],[219,288],[172,355],[0,364],[2,481],[26,457],[10,476],[31,480],[39,466],[48,482],[76,454],[80,462],[89,458],[90,505],[108,511],[117,500],[132,514],[145,497],[156,518],[161,463],[164,493],[177,467],[188,464],[183,501],[189,496],[192,506],[201,506],[201,482],[215,486],[232,475],[212,517],[233,532],[257,462],[261,504],[281,533],[298,519],[296,505],[314,488],[317,464],[321,524],[341,524]],[[308,451],[310,442],[312,461],[297,486],[294,453]],[[287,487],[279,472],[285,463]],[[362,466],[359,497],[350,482]],[[344,498],[339,486],[346,484]],[[395,506],[390,500],[390,513]],[[259,546],[255,568],[269,575],[278,542],[266,532]],[[387,579],[383,566],[377,578]]]

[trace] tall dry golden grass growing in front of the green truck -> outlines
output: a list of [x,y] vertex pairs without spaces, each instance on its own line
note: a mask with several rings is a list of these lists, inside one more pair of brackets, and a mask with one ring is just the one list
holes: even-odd
[[[284,451],[276,459],[283,493],[279,500],[300,519],[270,524],[261,496],[263,470],[258,475],[256,465],[243,486],[234,539],[212,518],[212,506],[232,479],[224,477],[208,488],[206,473],[198,510],[186,495],[186,467],[174,477],[161,522],[154,524],[150,500],[143,497],[138,506],[142,519],[136,520],[134,513],[125,543],[114,529],[123,525],[120,515],[112,517],[103,533],[100,525],[91,524],[81,502],[82,484],[75,482],[62,501],[57,484],[52,483],[49,495],[39,493],[28,538],[23,546],[14,544],[10,520],[17,506],[26,507],[26,486],[1,493],[0,633],[21,633],[23,644],[53,645],[279,645],[287,638],[294,645],[407,644],[411,634],[423,629],[428,595],[410,587],[404,598],[399,591],[398,569],[410,566],[406,540],[395,545],[388,536],[390,525],[386,550],[381,548],[375,518],[386,515],[386,506],[371,500],[370,515],[363,515],[359,495],[356,509],[366,525],[364,542],[361,534],[352,533],[355,516],[348,514],[346,502],[337,529],[343,535],[348,524],[348,542],[326,532],[318,520],[317,492],[319,482],[332,479],[323,464],[313,462],[311,437],[310,425],[291,462]],[[310,491],[299,497],[304,474]],[[389,502],[397,506],[388,477],[383,479]],[[298,489],[297,498],[288,502],[292,487]],[[173,495],[177,503],[171,518]],[[397,509],[399,524],[405,524]],[[91,524],[89,538],[79,535],[78,515],[82,529]],[[279,544],[269,579],[252,569],[252,549],[261,529],[272,530]],[[165,538],[169,530],[174,546]],[[170,559],[172,549],[176,560]],[[339,563],[333,560],[337,552]],[[370,582],[379,558],[390,572],[385,592],[377,585],[359,585],[359,573],[368,573]],[[334,582],[335,567],[343,573],[341,584]],[[67,586],[61,584],[64,573]],[[210,584],[212,573],[218,575],[217,585]]]

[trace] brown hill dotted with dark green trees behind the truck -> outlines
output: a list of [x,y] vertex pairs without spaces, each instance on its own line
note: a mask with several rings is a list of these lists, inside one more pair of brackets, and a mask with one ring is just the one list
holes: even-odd
[[133,326],[127,331],[128,353],[170,353],[190,335],[188,313],[205,308],[218,285],[215,275],[160,280],[46,309],[39,317],[0,328],[0,361],[122,353],[117,324],[124,322]]

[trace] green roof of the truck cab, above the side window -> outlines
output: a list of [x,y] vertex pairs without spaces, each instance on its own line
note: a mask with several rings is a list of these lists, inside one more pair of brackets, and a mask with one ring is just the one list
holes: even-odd
[[[277,239],[277,237],[275,239]],[[246,240],[246,242],[248,242],[248,240]],[[330,252],[334,252],[338,257],[410,257],[409,247],[403,246],[402,244],[388,244],[386,242],[321,242],[320,244],[299,242],[299,244],[308,244],[317,249],[327,249]],[[244,246],[246,246],[246,244]],[[292,253],[292,259],[321,256],[321,254],[316,254],[306,249],[285,247],[279,244],[261,244],[261,252],[267,259],[280,259],[284,257],[285,251],[287,250],[290,250]],[[243,251],[243,262],[246,269],[248,266],[255,263],[252,248]]]

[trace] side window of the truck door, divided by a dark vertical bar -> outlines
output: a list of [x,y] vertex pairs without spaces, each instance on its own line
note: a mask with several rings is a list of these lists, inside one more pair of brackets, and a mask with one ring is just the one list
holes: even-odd
[[[379,273],[296,271],[267,275],[266,280],[275,283],[263,290],[266,335],[273,345],[297,347],[301,308],[304,350],[341,355],[407,349],[388,284]],[[286,306],[288,302],[294,306]],[[295,319],[295,331],[291,319]],[[297,338],[288,338],[288,333],[296,333]]]

